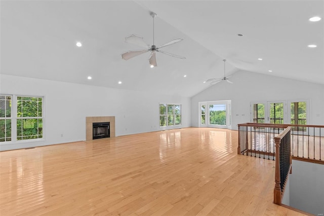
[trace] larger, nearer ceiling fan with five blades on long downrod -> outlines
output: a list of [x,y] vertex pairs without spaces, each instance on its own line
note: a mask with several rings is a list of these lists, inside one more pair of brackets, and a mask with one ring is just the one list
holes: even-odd
[[147,45],[144,42],[143,38],[138,37],[137,35],[132,34],[132,35],[130,35],[129,37],[127,37],[125,39],[125,42],[131,43],[131,44],[135,44],[135,45],[144,47],[146,49],[145,50],[131,50],[131,51],[125,52],[125,53],[121,54],[121,58],[123,58],[125,60],[128,60],[130,58],[133,58],[135,56],[138,56],[140,54],[143,54],[143,53],[146,53],[146,52],[149,52],[150,51],[151,52],[151,55],[149,57],[149,63],[151,65],[151,67],[156,67],[157,66],[157,64],[156,64],[156,58],[155,58],[155,53],[156,52],[160,52],[160,53],[163,53],[163,54],[166,54],[166,55],[170,55],[170,56],[173,56],[173,57],[176,57],[176,58],[185,59],[185,57],[183,57],[183,56],[179,56],[179,55],[175,55],[175,54],[172,54],[172,53],[168,53],[168,52],[159,50],[160,48],[163,48],[163,47],[170,46],[172,44],[178,43],[178,42],[182,41],[183,39],[175,39],[175,40],[170,41],[169,43],[166,43],[166,44],[161,45],[161,46],[158,46],[158,47],[154,45],[154,17],[156,16],[156,14],[153,13],[153,12],[150,12],[150,15],[153,18],[153,45],[152,46]]

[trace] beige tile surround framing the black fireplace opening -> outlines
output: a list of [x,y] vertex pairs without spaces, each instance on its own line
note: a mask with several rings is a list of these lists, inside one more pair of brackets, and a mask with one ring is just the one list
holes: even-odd
[[110,137],[115,137],[115,117],[95,116],[86,117],[86,140],[92,140],[92,123],[94,122],[110,122]]

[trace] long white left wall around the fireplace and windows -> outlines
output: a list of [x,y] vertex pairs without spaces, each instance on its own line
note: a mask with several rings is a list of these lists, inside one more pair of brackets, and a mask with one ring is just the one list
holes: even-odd
[[159,102],[181,103],[181,127],[191,123],[187,97],[8,75],[0,75],[0,92],[45,97],[45,140],[0,143],[1,151],[85,140],[87,116],[115,116],[116,136],[165,130],[159,128]]

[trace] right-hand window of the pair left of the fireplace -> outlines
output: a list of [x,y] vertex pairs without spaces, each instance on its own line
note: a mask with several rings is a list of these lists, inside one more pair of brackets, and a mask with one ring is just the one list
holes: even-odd
[[17,140],[43,138],[43,98],[17,97]]

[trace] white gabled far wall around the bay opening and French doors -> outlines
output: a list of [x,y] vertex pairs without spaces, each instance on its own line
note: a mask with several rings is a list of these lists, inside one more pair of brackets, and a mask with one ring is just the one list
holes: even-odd
[[234,84],[220,82],[191,98],[191,126],[199,125],[199,101],[232,100],[232,129],[237,130],[237,124],[251,122],[251,102],[291,99],[310,99],[307,124],[324,125],[324,85],[243,70],[233,74],[230,80]]

